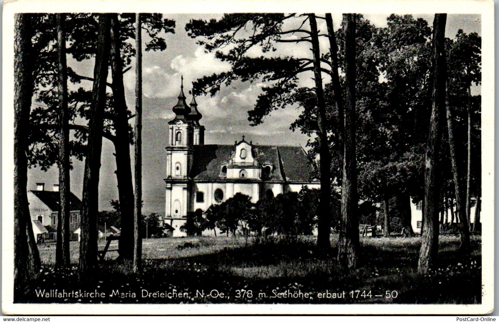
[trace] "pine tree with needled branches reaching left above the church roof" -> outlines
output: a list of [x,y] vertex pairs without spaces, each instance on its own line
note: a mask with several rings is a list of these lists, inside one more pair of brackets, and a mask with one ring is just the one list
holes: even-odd
[[[288,20],[289,19],[289,20]],[[301,23],[297,29],[283,30],[284,22],[298,19]],[[303,26],[308,22],[310,30]],[[258,125],[272,110],[283,108],[295,102],[297,91],[297,75],[305,71],[314,72],[315,87],[310,93],[315,94],[317,106],[317,129],[319,139],[321,193],[319,221],[319,247],[329,247],[330,216],[328,211],[331,191],[330,152],[327,142],[326,105],[322,86],[322,72],[330,73],[321,67],[321,63],[331,64],[323,59],[319,51],[316,16],[313,13],[296,14],[225,14],[220,20],[191,20],[186,25],[188,34],[200,37],[198,43],[208,51],[216,51],[216,56],[231,64],[230,72],[204,76],[194,83],[195,92],[215,95],[222,84],[230,85],[236,80],[254,81],[261,79],[268,85],[262,87],[256,105],[249,112],[251,125]],[[297,34],[296,40],[281,39],[285,34]],[[263,53],[276,51],[276,42],[308,42],[311,45],[312,57],[253,57],[248,54],[250,48],[258,47]],[[222,50],[230,46],[229,50]]]

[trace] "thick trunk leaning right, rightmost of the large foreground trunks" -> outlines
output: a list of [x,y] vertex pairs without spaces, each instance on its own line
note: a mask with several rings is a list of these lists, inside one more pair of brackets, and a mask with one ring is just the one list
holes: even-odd
[[422,274],[428,272],[438,255],[438,213],[440,205],[438,161],[441,137],[440,115],[445,109],[446,101],[447,66],[444,46],[446,19],[446,13],[437,13],[433,21],[433,104],[425,162],[425,220],[418,261],[418,272]]

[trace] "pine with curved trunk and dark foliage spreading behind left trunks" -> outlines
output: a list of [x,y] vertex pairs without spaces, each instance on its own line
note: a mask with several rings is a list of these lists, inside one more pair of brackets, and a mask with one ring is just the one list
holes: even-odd
[[[164,50],[166,49],[165,39],[159,36],[159,32],[173,32],[175,22],[169,19],[163,19],[161,14],[146,13],[142,15],[143,23],[141,28],[145,29],[149,35],[149,41],[146,42],[146,50]],[[56,120],[58,107],[57,96],[54,92],[56,76],[56,63],[53,55],[54,49],[52,41],[55,37],[54,15],[38,14],[37,32],[34,36],[34,43],[38,52],[35,64],[36,95],[35,100],[43,103],[31,113],[31,122],[33,124],[30,135],[30,161],[33,166],[40,165],[42,169],[47,169],[56,160],[58,147],[56,142],[56,133],[58,132],[59,122]],[[118,194],[121,203],[124,205],[122,216],[123,234],[120,239],[120,248],[123,249],[123,255],[131,259],[133,256],[133,186],[131,176],[131,162],[129,153],[129,144],[133,143],[131,136],[131,127],[128,119],[131,118],[131,112],[126,107],[124,98],[124,86],[122,75],[130,69],[125,68],[131,63],[131,57],[135,50],[130,39],[135,38],[135,14],[123,13],[113,14],[112,28],[112,74],[113,84],[107,84],[113,95],[106,95],[106,108],[104,112],[104,129],[102,135],[111,140],[116,149]],[[89,59],[96,53],[96,39],[98,32],[97,15],[89,13],[67,14],[66,15],[66,37],[69,47],[65,49],[66,53],[72,54],[77,61]],[[83,32],[84,31],[84,32]],[[125,68],[125,69],[123,69]],[[94,81],[94,78],[78,75],[70,68],[68,76],[73,84],[78,84],[81,80]],[[86,154],[87,137],[89,135],[88,126],[80,125],[81,119],[89,119],[89,111],[92,101],[92,92],[80,87],[76,91],[70,91],[68,102],[70,104],[69,112],[72,123],[69,125],[71,130],[75,130],[76,140],[71,141],[71,154],[79,160]],[[77,120],[77,122],[75,122]],[[75,124],[79,123],[79,124]],[[129,204],[130,203],[130,204]],[[126,206],[125,206],[126,205]]]

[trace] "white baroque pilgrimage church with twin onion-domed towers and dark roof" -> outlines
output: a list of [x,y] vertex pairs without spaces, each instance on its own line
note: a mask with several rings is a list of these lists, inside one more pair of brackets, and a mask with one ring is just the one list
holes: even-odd
[[181,85],[175,118],[168,122],[169,146],[166,159],[165,223],[173,236],[186,236],[180,227],[187,213],[220,204],[241,192],[252,202],[302,186],[320,188],[310,181],[312,166],[301,147],[262,146],[247,142],[245,136],[233,145],[205,144],[205,127],[199,121],[196,99],[186,103]]

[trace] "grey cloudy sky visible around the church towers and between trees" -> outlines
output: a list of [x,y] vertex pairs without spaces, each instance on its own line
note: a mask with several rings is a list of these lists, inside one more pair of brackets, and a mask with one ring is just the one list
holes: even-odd
[[[364,17],[377,27],[386,27],[386,17],[389,14],[365,14]],[[433,14],[414,14],[422,17],[430,25],[433,23]],[[187,36],[185,25],[189,19],[219,18],[216,14],[165,14],[164,17],[176,21],[175,34],[163,34],[168,48],[162,52],[144,52],[143,54],[143,200],[144,213],[164,213],[164,181],[167,146],[168,121],[174,118],[172,107],[177,103],[180,91],[180,77],[184,76],[184,92],[187,102],[191,101],[188,94],[191,82],[203,75],[210,75],[229,69],[227,63],[221,62],[212,53],[205,53],[204,48],[196,44],[195,39]],[[454,38],[458,29],[466,33],[478,32],[481,34],[480,15],[449,14],[447,18],[446,36]],[[333,14],[335,28],[339,27],[341,14]],[[319,30],[327,30],[322,19],[318,21]],[[294,22],[295,24],[298,21]],[[289,24],[291,27],[292,24]],[[285,26],[288,27],[288,26]],[[143,36],[146,37],[145,35]],[[293,37],[289,35],[289,38]],[[144,39],[146,40],[146,39]],[[320,40],[321,51],[328,49],[327,40]],[[258,50],[250,52],[259,55]],[[278,46],[275,55],[293,55],[307,57],[311,55],[309,48],[304,44],[284,43]],[[77,73],[85,76],[93,74],[93,59],[85,62],[76,62],[68,57],[68,65]],[[300,78],[301,86],[313,86],[312,74],[303,73]],[[110,79],[111,81],[111,79]],[[327,77],[325,82],[329,82]],[[135,106],[135,74],[134,67],[124,75],[126,99],[129,109]],[[90,82],[82,81],[81,86],[91,88]],[[282,110],[273,111],[265,118],[263,124],[251,127],[248,122],[248,111],[255,104],[262,84],[259,82],[236,83],[231,87],[222,88],[215,97],[201,96],[196,98],[198,110],[203,115],[200,123],[205,126],[205,144],[233,144],[245,135],[247,140],[259,144],[301,145],[305,147],[307,137],[289,130],[289,125],[299,115],[299,109],[291,106]],[[480,87],[473,89],[473,94],[480,94]],[[130,122],[133,122],[131,120]],[[109,201],[118,199],[116,168],[113,157],[113,145],[103,139],[102,166],[100,171],[100,200],[99,209],[110,209]],[[133,153],[133,148],[131,149]],[[133,158],[132,158],[133,159]],[[74,169],[71,171],[71,191],[81,198],[83,163],[73,160]],[[45,182],[46,189],[57,183],[57,168],[54,166],[47,172],[31,169],[28,172],[28,188],[34,189],[36,182]]]

